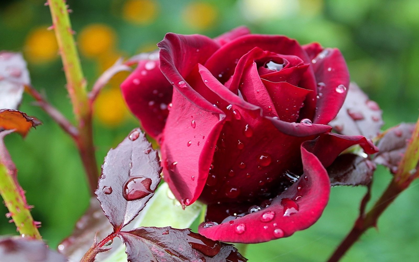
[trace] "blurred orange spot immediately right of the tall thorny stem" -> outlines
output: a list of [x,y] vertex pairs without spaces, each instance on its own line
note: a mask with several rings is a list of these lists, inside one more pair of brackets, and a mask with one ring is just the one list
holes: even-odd
[[114,48],[116,34],[111,27],[104,24],[86,26],[78,36],[80,52],[86,57],[98,57]]

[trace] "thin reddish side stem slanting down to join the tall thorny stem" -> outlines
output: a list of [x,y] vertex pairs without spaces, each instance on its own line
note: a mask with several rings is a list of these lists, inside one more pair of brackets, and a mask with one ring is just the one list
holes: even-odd
[[46,112],[49,117],[51,117],[57,124],[69,134],[73,139],[78,137],[78,130],[73,126],[70,121],[68,121],[54,106],[49,104],[44,97],[36,91],[32,86],[25,86],[25,91],[31,95],[35,100],[38,106],[40,106],[44,112]]

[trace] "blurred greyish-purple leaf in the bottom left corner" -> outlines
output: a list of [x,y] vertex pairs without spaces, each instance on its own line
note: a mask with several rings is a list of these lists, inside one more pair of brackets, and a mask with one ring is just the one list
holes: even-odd
[[2,262],[66,262],[67,259],[45,246],[42,241],[10,237],[0,239]]

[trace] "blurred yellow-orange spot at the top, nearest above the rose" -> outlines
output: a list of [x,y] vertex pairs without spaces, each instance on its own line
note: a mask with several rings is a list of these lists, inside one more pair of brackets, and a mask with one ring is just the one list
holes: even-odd
[[182,18],[191,28],[207,29],[214,25],[217,10],[214,5],[205,2],[192,2],[186,6]]

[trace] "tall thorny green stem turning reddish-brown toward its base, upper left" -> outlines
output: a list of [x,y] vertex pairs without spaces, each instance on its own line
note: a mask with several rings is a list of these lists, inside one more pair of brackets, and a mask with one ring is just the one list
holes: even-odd
[[97,188],[99,174],[93,146],[92,106],[88,101],[86,80],[81,69],[80,58],[73,37],[74,32],[71,28],[65,1],[48,0],[47,4],[51,11],[52,27],[57,37],[65,78],[67,79],[67,91],[78,122],[79,135],[76,139],[76,145],[93,195]]

